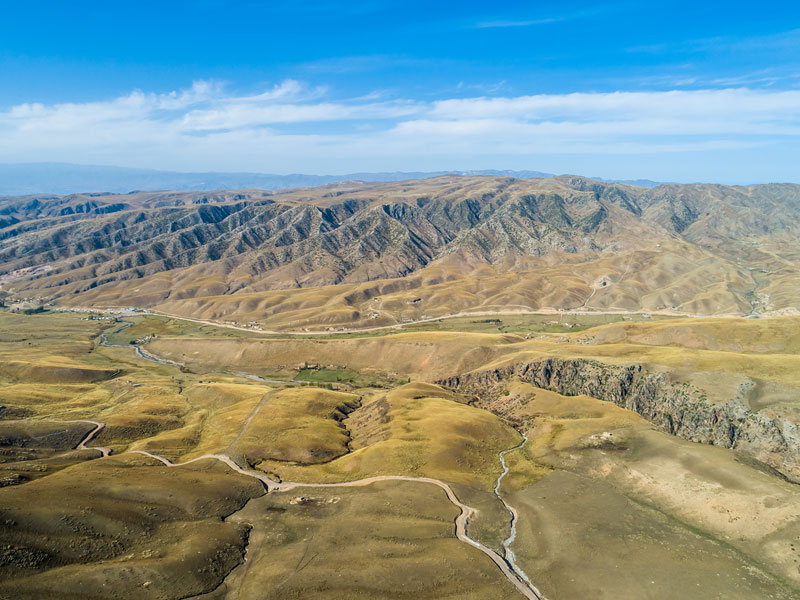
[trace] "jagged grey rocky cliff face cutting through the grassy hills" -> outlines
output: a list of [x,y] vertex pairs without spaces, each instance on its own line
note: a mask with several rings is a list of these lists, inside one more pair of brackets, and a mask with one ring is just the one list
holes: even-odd
[[703,390],[670,381],[668,373],[650,372],[640,364],[619,366],[561,359],[468,373],[439,383],[486,397],[512,376],[565,396],[585,394],[613,402],[668,433],[737,450],[800,483],[800,428],[785,419],[749,410],[743,400],[745,389],[727,402],[711,403]]

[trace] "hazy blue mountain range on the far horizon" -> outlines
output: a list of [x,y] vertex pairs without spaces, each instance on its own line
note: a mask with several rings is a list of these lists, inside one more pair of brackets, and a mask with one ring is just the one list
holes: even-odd
[[[518,179],[553,177],[540,171],[430,171],[391,173],[347,173],[345,175],[275,175],[270,173],[180,173],[154,169],[129,169],[70,163],[0,164],[0,195],[76,194],[81,192],[110,192],[127,194],[150,190],[281,190],[313,187],[340,181],[402,181],[429,179],[441,175],[500,175]],[[613,181],[641,187],[654,187],[657,182],[646,179]]]

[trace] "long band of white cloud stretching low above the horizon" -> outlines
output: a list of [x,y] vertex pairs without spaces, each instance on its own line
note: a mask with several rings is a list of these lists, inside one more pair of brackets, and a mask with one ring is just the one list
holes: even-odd
[[199,81],[166,94],[0,110],[2,162],[181,170],[436,169],[445,159],[478,158],[503,167],[498,161],[509,157],[710,152],[787,140],[800,141],[798,90],[332,100],[293,80],[255,94]]

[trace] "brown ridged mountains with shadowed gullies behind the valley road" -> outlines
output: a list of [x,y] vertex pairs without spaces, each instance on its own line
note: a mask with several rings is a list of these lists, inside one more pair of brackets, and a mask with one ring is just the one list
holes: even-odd
[[372,323],[377,306],[408,318],[498,306],[756,314],[800,306],[798,240],[792,184],[445,175],[40,194],[0,198],[0,286],[292,327]]

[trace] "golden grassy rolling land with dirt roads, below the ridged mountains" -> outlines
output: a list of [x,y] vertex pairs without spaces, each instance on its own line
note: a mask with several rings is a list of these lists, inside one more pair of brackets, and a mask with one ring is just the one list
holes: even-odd
[[[500,316],[264,337],[0,313],[0,598],[800,594],[798,320]],[[786,447],[670,435],[611,393],[630,365]]]

